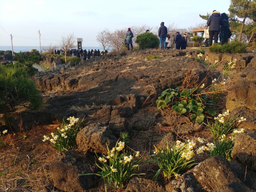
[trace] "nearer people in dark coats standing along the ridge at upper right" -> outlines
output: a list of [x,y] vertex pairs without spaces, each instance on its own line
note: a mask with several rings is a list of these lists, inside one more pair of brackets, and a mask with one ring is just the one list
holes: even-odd
[[[214,43],[218,43],[218,38],[220,37],[221,44],[227,43],[228,39],[231,37],[232,33],[229,28],[229,18],[226,13],[220,14],[220,12],[214,10],[209,19],[207,20],[207,28],[209,27],[209,46],[212,45],[213,38]],[[146,32],[149,33],[149,30],[147,29]],[[158,36],[160,40],[159,48],[160,49],[170,49],[172,48],[172,44],[175,44],[175,49],[186,49],[187,47],[187,35],[179,34],[177,31],[175,35],[173,35],[173,41],[171,41],[171,36],[168,34],[169,30],[164,25],[164,22],[160,24],[160,27],[158,29]],[[131,47],[131,50],[133,48],[132,46],[132,38],[133,33],[131,32],[131,29],[128,28],[128,31],[125,36],[125,44],[127,44],[128,50],[130,50],[129,47]]]

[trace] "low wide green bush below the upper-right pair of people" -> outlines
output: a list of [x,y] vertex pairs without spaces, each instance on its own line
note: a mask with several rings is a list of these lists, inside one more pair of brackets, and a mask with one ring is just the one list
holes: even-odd
[[245,43],[232,41],[223,45],[215,43],[209,47],[209,50],[216,53],[244,53],[247,49]]

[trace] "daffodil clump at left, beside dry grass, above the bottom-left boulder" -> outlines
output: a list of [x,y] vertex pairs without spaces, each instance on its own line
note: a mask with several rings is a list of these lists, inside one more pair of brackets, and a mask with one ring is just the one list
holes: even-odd
[[56,133],[51,133],[51,139],[44,135],[43,142],[49,140],[54,145],[53,148],[58,151],[69,150],[76,146],[77,133],[80,131],[83,120],[78,122],[79,119],[74,117],[69,117],[67,120],[70,123],[63,119],[61,127],[56,128]]

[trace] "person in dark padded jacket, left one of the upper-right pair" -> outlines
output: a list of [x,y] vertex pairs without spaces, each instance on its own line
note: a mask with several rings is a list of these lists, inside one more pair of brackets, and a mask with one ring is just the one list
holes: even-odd
[[207,21],[207,26],[209,26],[209,46],[212,45],[212,40],[214,37],[214,43],[218,43],[218,35],[220,33],[220,27],[222,25],[222,17],[221,13],[214,10],[211,13],[211,16],[209,17]]

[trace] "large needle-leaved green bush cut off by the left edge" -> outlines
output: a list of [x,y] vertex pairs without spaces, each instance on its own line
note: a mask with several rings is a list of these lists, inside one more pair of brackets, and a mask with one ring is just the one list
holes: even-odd
[[41,93],[25,68],[0,65],[0,113],[13,112],[17,106],[42,107]]

